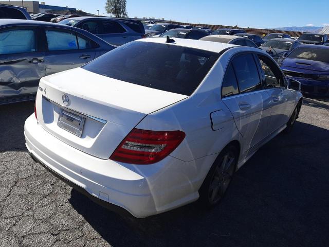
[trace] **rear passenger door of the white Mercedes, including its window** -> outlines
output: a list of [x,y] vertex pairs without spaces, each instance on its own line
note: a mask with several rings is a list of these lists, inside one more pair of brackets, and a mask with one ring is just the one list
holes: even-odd
[[268,94],[257,66],[252,53],[239,54],[227,67],[222,83],[222,101],[231,111],[236,128],[243,136],[244,153],[252,151],[268,135]]

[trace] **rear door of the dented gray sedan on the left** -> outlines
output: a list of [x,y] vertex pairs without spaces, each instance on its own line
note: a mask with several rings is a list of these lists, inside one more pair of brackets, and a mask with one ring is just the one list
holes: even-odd
[[60,28],[46,28],[46,75],[76,68],[92,61],[96,50],[94,42],[79,33]]

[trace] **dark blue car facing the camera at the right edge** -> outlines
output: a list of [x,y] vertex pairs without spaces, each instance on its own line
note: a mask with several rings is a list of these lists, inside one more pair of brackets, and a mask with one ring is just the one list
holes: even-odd
[[283,60],[281,69],[287,77],[301,82],[303,93],[329,96],[328,46],[301,45]]

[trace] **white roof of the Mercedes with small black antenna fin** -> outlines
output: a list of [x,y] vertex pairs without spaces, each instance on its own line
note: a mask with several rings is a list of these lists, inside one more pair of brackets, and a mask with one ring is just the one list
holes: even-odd
[[[209,36],[207,36],[209,37]],[[240,37],[237,37],[240,38]],[[226,43],[217,43],[212,41],[203,41],[203,40],[190,40],[190,39],[179,39],[179,38],[171,38],[175,40],[174,43],[166,43],[166,38],[156,38],[156,39],[140,39],[133,42],[153,42],[153,43],[160,43],[160,44],[168,44],[168,45],[178,45],[184,47],[190,47],[200,50],[207,50],[211,52],[219,53],[227,48],[231,47],[241,47],[238,45],[231,45]],[[250,47],[248,47],[250,48]]]

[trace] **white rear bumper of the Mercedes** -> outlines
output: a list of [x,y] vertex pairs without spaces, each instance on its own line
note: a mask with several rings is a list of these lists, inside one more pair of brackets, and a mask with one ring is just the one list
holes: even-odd
[[24,134],[34,160],[96,203],[119,213],[128,211],[144,218],[198,199],[196,186],[177,170],[186,170],[189,164],[177,158],[168,156],[143,166],[102,160],[49,134],[34,114],[26,120]]

